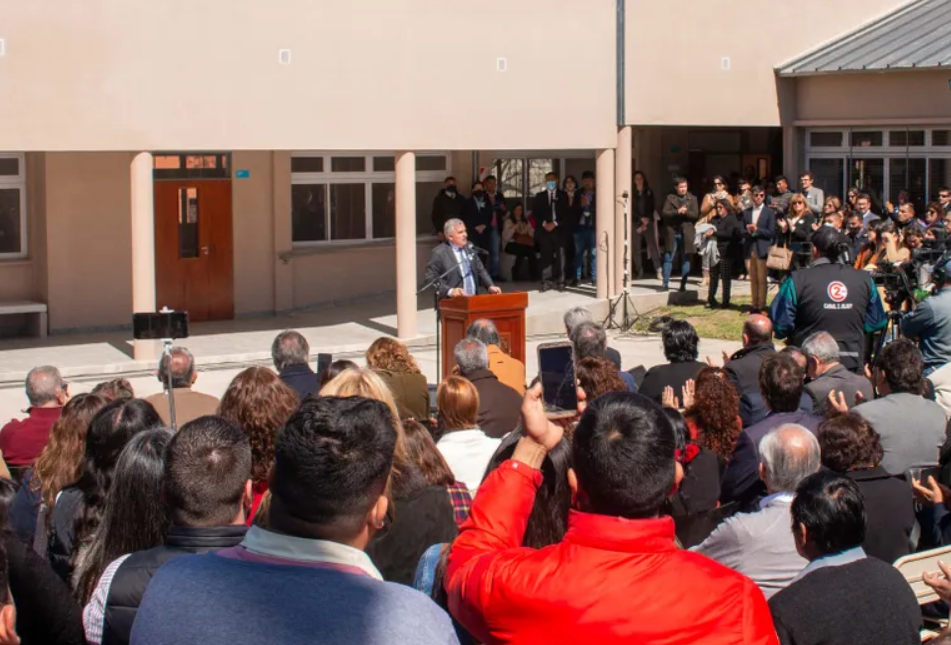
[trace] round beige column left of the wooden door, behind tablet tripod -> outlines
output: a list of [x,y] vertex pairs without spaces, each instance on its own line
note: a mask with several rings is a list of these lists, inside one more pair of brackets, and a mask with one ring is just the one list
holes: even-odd
[[[132,192],[132,311],[147,313],[155,305],[155,201],[152,195],[152,155],[140,152],[130,169]],[[135,341],[135,359],[158,357],[158,344]]]

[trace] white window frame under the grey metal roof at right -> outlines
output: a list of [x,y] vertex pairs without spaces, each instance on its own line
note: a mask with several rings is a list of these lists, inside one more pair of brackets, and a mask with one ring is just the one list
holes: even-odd
[[[892,186],[892,172],[891,172],[891,163],[892,159],[923,159],[925,161],[925,176],[924,176],[924,186],[925,194],[923,196],[924,202],[927,204],[932,201],[937,201],[937,195],[931,195],[931,164],[929,163],[932,159],[946,159],[951,163],[951,145],[934,145],[932,142],[932,134],[935,130],[948,130],[948,126],[922,126],[922,125],[883,125],[883,126],[856,126],[852,128],[848,127],[817,127],[817,128],[805,128],[805,136],[803,137],[805,145],[803,146],[803,162],[806,170],[811,170],[812,160],[813,159],[841,159],[843,163],[843,176],[842,176],[842,185],[839,187],[838,197],[841,199],[845,198],[845,195],[848,194],[849,186],[852,179],[851,174],[851,160],[853,159],[882,159],[884,161],[884,169],[882,174],[882,181],[884,183],[884,189],[882,191],[882,203],[887,201],[894,201],[897,199],[897,190],[896,194],[892,195],[891,191],[894,188]],[[913,131],[924,131],[925,141],[922,146],[912,146],[912,145],[892,145],[891,143],[891,132],[896,130],[905,130],[906,132]],[[872,132],[877,131],[882,133],[882,145],[881,146],[850,146],[849,143],[852,140],[852,132]],[[811,146],[809,145],[809,140],[812,133],[814,132],[839,132],[842,134],[842,144],[841,146]]]

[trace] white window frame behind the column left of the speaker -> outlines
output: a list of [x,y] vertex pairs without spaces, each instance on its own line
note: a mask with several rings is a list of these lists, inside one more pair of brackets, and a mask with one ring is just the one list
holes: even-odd
[[[416,183],[425,182],[443,182],[446,177],[452,175],[452,154],[448,151],[435,152],[417,152],[417,156],[426,157],[444,157],[446,159],[446,168],[444,170],[417,170]],[[321,247],[338,246],[364,246],[379,244],[381,242],[393,241],[394,237],[373,237],[373,184],[396,184],[396,171],[374,171],[373,158],[384,156],[395,156],[395,152],[387,150],[373,150],[352,152],[345,150],[335,151],[296,151],[291,153],[291,157],[322,157],[323,172],[292,172],[291,186],[297,185],[323,185],[324,203],[327,210],[324,213],[325,227],[327,231],[326,240],[294,240],[293,227],[291,229],[291,248],[293,249],[312,249]],[[331,170],[332,157],[363,157],[365,159],[365,170],[360,172],[333,172]],[[364,200],[364,237],[352,238],[347,240],[334,240],[331,227],[330,216],[330,187],[334,184],[363,184]],[[432,234],[428,231],[417,231],[416,238],[430,239]]]

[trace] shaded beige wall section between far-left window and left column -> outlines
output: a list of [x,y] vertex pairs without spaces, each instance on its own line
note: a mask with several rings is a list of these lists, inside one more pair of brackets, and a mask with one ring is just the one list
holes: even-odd
[[129,325],[129,152],[46,155],[50,329]]

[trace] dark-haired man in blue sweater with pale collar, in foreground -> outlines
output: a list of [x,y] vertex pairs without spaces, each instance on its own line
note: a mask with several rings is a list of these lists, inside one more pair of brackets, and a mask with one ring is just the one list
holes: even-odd
[[[387,523],[396,423],[379,401],[307,398],[278,436],[271,528],[252,527],[239,546],[163,565],[130,642],[177,645],[187,635],[202,645],[456,643],[445,612],[418,591],[383,582],[364,553]],[[236,613],[247,607],[255,609],[250,620]]]

